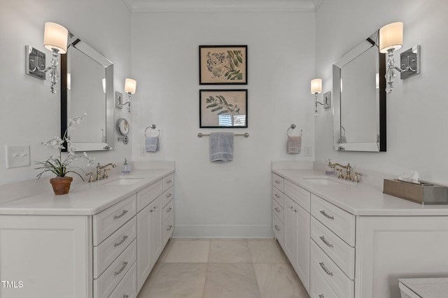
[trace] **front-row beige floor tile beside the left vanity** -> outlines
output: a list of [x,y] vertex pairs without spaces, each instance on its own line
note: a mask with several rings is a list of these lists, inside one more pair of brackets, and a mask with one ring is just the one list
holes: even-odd
[[147,294],[143,297],[201,298],[206,271],[207,264],[203,263],[160,263],[157,275],[146,281]]

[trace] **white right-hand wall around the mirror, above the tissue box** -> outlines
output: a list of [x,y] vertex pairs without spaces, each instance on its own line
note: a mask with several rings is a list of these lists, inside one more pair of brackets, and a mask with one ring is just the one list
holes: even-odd
[[316,76],[323,78],[323,92],[332,89],[332,63],[390,22],[404,22],[396,60],[421,45],[421,73],[407,80],[398,75],[387,96],[387,152],[333,151],[332,115],[325,111],[316,118],[316,161],[331,158],[397,175],[415,170],[423,180],[447,183],[447,13],[448,2],[440,0],[323,1],[316,13]]

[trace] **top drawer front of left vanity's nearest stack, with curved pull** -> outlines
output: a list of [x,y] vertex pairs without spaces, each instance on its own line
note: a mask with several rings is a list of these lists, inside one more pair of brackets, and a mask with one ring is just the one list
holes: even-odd
[[98,246],[137,214],[137,194],[93,215],[93,245]]

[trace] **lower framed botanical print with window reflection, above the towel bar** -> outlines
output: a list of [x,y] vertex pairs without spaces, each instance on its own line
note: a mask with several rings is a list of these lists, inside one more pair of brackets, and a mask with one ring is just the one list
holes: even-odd
[[247,90],[200,90],[200,127],[247,127]]

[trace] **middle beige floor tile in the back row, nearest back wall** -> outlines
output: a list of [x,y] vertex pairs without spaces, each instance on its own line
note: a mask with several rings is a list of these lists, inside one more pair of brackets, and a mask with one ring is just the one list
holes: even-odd
[[212,239],[210,263],[251,263],[251,253],[245,239]]

